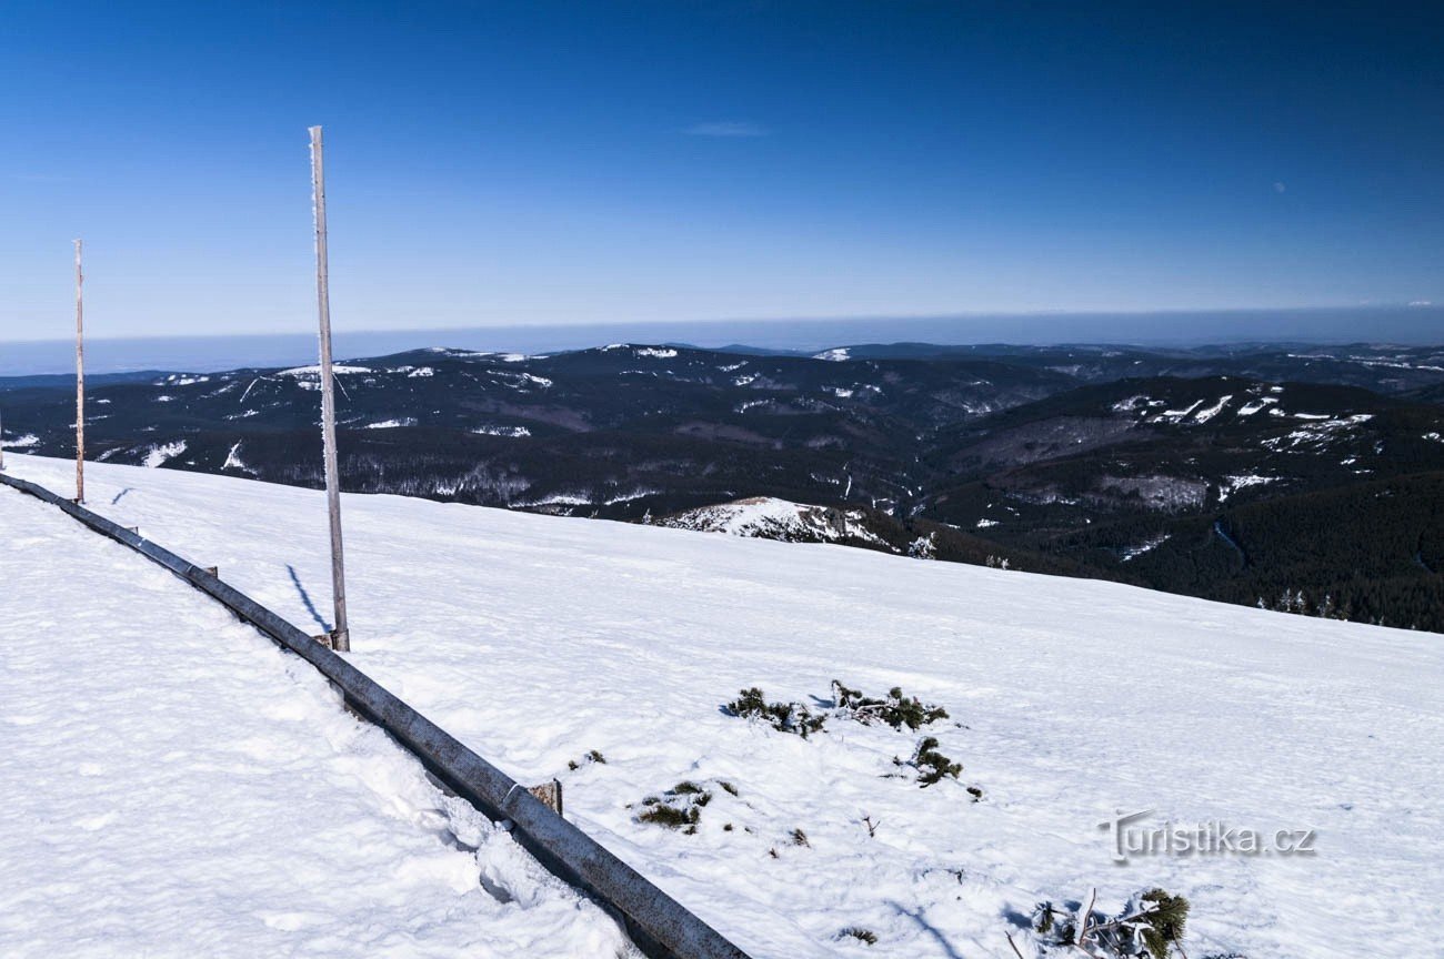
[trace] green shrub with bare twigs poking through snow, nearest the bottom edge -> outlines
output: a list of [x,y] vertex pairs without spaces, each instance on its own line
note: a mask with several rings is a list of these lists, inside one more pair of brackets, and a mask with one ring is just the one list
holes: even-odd
[[1188,920],[1188,900],[1161,888],[1135,894],[1121,913],[1108,916],[1082,903],[1057,907],[1040,903],[1032,914],[1032,932],[1045,952],[1054,947],[1082,949],[1100,959],[1151,956],[1168,959],[1183,953],[1180,942]]

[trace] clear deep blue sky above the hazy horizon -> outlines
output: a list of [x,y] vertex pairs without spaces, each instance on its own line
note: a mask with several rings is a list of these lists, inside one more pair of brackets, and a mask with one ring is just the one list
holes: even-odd
[[[403,9],[404,7],[404,9]],[[0,339],[1444,301],[1444,4],[10,3]]]

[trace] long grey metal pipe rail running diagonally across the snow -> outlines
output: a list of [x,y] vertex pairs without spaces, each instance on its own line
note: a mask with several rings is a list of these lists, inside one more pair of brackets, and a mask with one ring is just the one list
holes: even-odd
[[656,959],[748,959],[747,953],[579,828],[552,812],[527,789],[472,753],[344,658],[296,629],[209,570],[178,557],[144,536],[84,506],[14,476],[13,486],[53,506],[95,532],[143,557],[211,596],[280,646],[296,653],[345,695],[347,705],[391,734],[456,795],[491,819],[513,823],[511,835],[550,872],[579,888],[621,920],[632,942]]

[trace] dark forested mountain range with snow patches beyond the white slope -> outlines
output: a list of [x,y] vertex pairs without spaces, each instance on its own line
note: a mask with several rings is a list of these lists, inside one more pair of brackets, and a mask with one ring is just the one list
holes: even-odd
[[[1444,630],[1441,348],[429,349],[338,382],[349,490],[700,528],[783,500],[823,534],[777,538]],[[90,386],[95,459],[321,483],[315,368]],[[72,454],[72,389],[0,379],[6,446]]]

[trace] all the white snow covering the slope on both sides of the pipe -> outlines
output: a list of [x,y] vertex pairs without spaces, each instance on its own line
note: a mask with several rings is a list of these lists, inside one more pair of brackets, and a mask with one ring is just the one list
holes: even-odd
[[[66,461],[7,464],[69,482]],[[319,630],[322,493],[124,466],[87,486]],[[0,502],[19,531],[0,554],[0,872],[27,877],[0,884],[0,953],[101,955],[113,934],[127,955],[609,955],[593,910],[485,823],[446,825],[303,668],[53,511]],[[1437,955],[1437,636],[394,496],[347,496],[344,516],[352,660],[520,780],[560,777],[570,819],[754,956],[1008,956],[1012,933],[1031,959],[1014,917],[1037,901],[1096,887],[1116,909],[1155,885],[1193,903],[1190,956]],[[56,601],[62,570],[82,600]],[[719,710],[754,685],[820,710],[833,678],[944,705],[927,734],[960,780],[890,777],[905,731],[836,720],[803,740]],[[713,795],[696,835],[637,821],[682,780]],[[1318,852],[1116,865],[1097,823],[1141,809],[1317,829]],[[514,903],[478,891],[478,861]],[[852,926],[877,945],[839,940]]]

